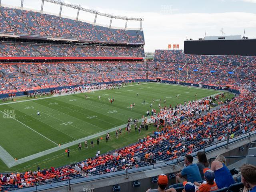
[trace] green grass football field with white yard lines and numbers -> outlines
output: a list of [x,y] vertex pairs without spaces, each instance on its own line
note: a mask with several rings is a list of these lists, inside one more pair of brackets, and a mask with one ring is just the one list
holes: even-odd
[[[137,96],[137,92],[139,95]],[[32,154],[42,152],[60,144],[67,144],[87,136],[127,124],[128,118],[140,119],[150,110],[150,103],[154,99],[153,108],[161,106],[175,106],[184,101],[197,100],[218,93],[219,91],[201,88],[188,88],[169,84],[146,83],[129,84],[120,89],[101,90],[91,93],[70,94],[67,96],[48,97],[40,100],[20,98],[24,102],[6,103],[0,105],[0,146],[17,160]],[[176,95],[178,95],[176,98]],[[197,96],[195,96],[197,94]],[[88,96],[85,99],[85,95]],[[101,96],[99,100],[98,96]],[[111,104],[108,98],[114,98]],[[33,99],[33,98],[32,98]],[[145,104],[143,104],[145,100]],[[135,108],[130,109],[130,104],[135,103]],[[150,110],[151,111],[151,110]],[[159,110],[158,110],[159,111]],[[14,112],[14,118],[4,118],[6,114]],[[37,115],[40,112],[40,116]],[[5,114],[4,114],[5,113]],[[137,142],[139,137],[146,136],[154,130],[153,126],[141,134],[123,131],[122,136],[115,138],[114,132],[110,133],[111,140],[106,143],[101,140],[100,145],[77,150],[77,144],[70,146],[70,157],[67,158],[64,150],[41,156],[39,158],[8,168],[0,160],[0,172],[36,170],[50,166],[64,166],[70,162],[77,162],[92,157],[100,149],[105,153],[128,144]],[[104,138],[104,136],[103,136]],[[89,144],[90,140],[88,140]]]

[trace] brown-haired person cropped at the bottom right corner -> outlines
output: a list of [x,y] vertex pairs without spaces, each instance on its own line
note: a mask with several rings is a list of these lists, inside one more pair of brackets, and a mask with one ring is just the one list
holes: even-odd
[[250,189],[250,192],[256,192],[256,166],[251,164],[244,164],[240,167],[242,175],[242,183],[244,184],[244,189]]

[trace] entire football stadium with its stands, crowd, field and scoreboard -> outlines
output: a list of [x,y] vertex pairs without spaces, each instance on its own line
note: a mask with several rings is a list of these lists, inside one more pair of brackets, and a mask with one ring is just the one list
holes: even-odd
[[159,49],[146,12],[14,1],[0,0],[0,191],[256,192],[256,39],[245,29]]

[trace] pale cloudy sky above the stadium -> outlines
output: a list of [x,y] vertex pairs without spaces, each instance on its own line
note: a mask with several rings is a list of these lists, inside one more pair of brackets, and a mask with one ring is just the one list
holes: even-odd
[[[168,44],[184,40],[226,35],[256,38],[256,0],[64,0],[66,3],[118,16],[143,18],[145,51],[168,49]],[[20,6],[20,0],[2,0],[2,4]],[[40,10],[41,0],[24,0],[24,8]],[[44,3],[44,11],[59,13],[60,6]],[[76,18],[77,10],[62,8],[62,15]],[[79,14],[80,20],[94,21],[94,15]],[[109,25],[110,18],[97,17],[97,23]],[[113,19],[112,26],[125,26],[124,20]],[[140,22],[128,21],[128,28],[140,28]]]

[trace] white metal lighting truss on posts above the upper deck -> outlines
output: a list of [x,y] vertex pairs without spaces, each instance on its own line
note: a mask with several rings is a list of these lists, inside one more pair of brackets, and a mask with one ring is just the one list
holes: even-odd
[[104,16],[104,17],[110,18],[110,27],[111,27],[112,19],[114,18],[114,19],[126,20],[126,27],[127,27],[128,20],[130,20],[130,21],[140,21],[140,30],[142,29],[142,21],[143,21],[142,17],[141,18],[134,18],[134,17],[125,17],[125,16],[114,16],[113,14],[107,14],[107,13],[98,12],[98,10],[83,8],[80,5],[69,4],[69,3],[66,3],[65,1],[62,1],[62,0],[41,0],[41,1],[42,1],[41,13],[43,12],[44,1],[46,1],[46,2],[49,2],[49,3],[54,3],[54,4],[60,5],[60,14],[59,14],[59,16],[61,16],[62,6],[66,6],[66,7],[70,7],[70,8],[74,8],[74,9],[78,10],[77,16],[76,16],[76,20],[78,20],[79,11],[82,10],[84,12],[95,14],[94,25],[96,24],[97,15],[100,15],[100,16]]

